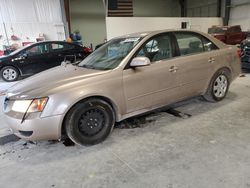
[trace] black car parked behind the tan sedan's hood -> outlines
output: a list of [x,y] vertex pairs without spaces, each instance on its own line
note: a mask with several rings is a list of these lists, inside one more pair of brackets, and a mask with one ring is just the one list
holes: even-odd
[[0,57],[3,80],[11,82],[58,66],[67,57],[82,60],[91,53],[87,47],[63,41],[38,42]]

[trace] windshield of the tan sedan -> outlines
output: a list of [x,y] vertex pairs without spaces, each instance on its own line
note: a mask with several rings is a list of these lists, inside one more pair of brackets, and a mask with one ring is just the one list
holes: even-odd
[[98,70],[114,69],[141,39],[141,37],[113,39],[90,54],[78,66]]

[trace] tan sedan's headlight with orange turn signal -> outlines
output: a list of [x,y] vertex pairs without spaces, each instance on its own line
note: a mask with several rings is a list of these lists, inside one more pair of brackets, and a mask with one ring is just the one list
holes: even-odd
[[21,113],[42,112],[48,102],[48,97],[32,100],[16,100],[12,110]]

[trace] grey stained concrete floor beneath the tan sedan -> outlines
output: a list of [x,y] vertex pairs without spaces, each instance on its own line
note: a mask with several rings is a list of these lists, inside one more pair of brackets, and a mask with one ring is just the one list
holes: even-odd
[[[250,74],[219,103],[192,99],[175,117],[157,112],[124,121],[102,144],[0,146],[1,188],[250,188]],[[4,127],[0,119],[0,129]],[[4,137],[3,137],[4,138]]]

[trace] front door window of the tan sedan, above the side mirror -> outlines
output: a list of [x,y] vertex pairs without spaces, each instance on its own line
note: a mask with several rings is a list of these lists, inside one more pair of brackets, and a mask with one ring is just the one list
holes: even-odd
[[156,62],[172,57],[171,39],[168,35],[159,35],[146,42],[136,55],[148,57],[151,62]]

